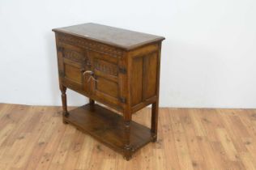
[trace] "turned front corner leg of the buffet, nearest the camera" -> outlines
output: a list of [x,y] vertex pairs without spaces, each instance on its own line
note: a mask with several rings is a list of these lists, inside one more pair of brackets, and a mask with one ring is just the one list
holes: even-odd
[[126,160],[131,159],[131,147],[130,147],[130,121],[131,121],[131,114],[124,113],[124,129],[125,129],[125,148],[124,148],[124,158]]

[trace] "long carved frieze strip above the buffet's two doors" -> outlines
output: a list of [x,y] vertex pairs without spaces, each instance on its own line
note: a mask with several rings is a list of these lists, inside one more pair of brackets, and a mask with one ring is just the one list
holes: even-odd
[[108,45],[103,45],[97,42],[93,42],[91,40],[86,40],[86,39],[77,38],[73,36],[66,36],[62,34],[61,36],[58,37],[58,40],[60,40],[61,42],[65,42],[66,44],[77,45],[79,47],[82,47],[83,49],[90,49],[92,51],[96,51],[98,53],[105,53],[113,57],[122,56],[121,49],[116,49]]

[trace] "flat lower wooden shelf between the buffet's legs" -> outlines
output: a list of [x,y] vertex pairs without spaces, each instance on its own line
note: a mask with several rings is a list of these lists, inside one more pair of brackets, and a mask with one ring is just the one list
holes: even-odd
[[[113,113],[98,104],[86,104],[69,112],[64,121],[75,125],[79,130],[91,134],[92,137],[112,147],[115,151],[123,152],[124,120],[121,115]],[[134,121],[130,124],[130,146],[134,152],[151,142],[151,130]]]

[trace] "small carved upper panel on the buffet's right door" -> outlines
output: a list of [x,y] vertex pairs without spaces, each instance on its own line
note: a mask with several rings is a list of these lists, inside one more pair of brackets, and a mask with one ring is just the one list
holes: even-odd
[[105,62],[103,60],[96,59],[94,61],[94,67],[96,70],[104,72],[105,74],[111,74],[117,76],[117,65],[110,62]]

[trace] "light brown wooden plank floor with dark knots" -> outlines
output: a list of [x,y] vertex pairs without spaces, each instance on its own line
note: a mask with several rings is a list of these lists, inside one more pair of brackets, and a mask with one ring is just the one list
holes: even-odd
[[[158,142],[130,161],[62,124],[61,111],[0,104],[0,169],[256,169],[256,109],[160,108]],[[133,115],[150,118],[149,108]]]

